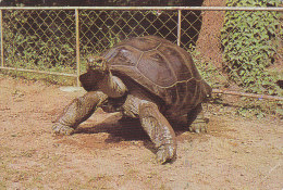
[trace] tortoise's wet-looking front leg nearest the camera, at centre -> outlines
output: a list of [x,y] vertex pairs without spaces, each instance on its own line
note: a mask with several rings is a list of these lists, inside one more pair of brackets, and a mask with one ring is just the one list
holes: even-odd
[[139,117],[144,130],[157,148],[157,160],[160,163],[172,161],[176,155],[175,132],[167,118],[159,112],[156,103],[128,96],[124,113]]

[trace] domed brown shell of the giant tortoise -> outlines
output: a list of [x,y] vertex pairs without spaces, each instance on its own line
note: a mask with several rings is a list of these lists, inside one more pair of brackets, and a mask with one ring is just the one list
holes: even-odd
[[187,112],[211,93],[190,54],[163,38],[132,38],[101,55],[113,73],[132,78],[161,98],[172,113]]

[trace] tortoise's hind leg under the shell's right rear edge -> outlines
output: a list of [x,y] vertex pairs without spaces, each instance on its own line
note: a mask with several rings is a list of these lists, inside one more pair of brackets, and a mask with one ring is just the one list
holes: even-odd
[[205,117],[201,104],[198,104],[187,114],[187,123],[192,132],[207,132],[208,119]]

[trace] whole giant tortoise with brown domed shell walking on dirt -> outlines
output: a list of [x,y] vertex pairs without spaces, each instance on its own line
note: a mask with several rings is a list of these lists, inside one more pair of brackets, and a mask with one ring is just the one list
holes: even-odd
[[97,107],[121,112],[139,118],[156,145],[157,160],[167,163],[176,155],[172,121],[186,115],[188,129],[206,130],[201,102],[211,88],[189,53],[163,38],[127,39],[100,56],[90,56],[79,80],[87,93],[65,107],[52,127],[54,134],[73,134]]

